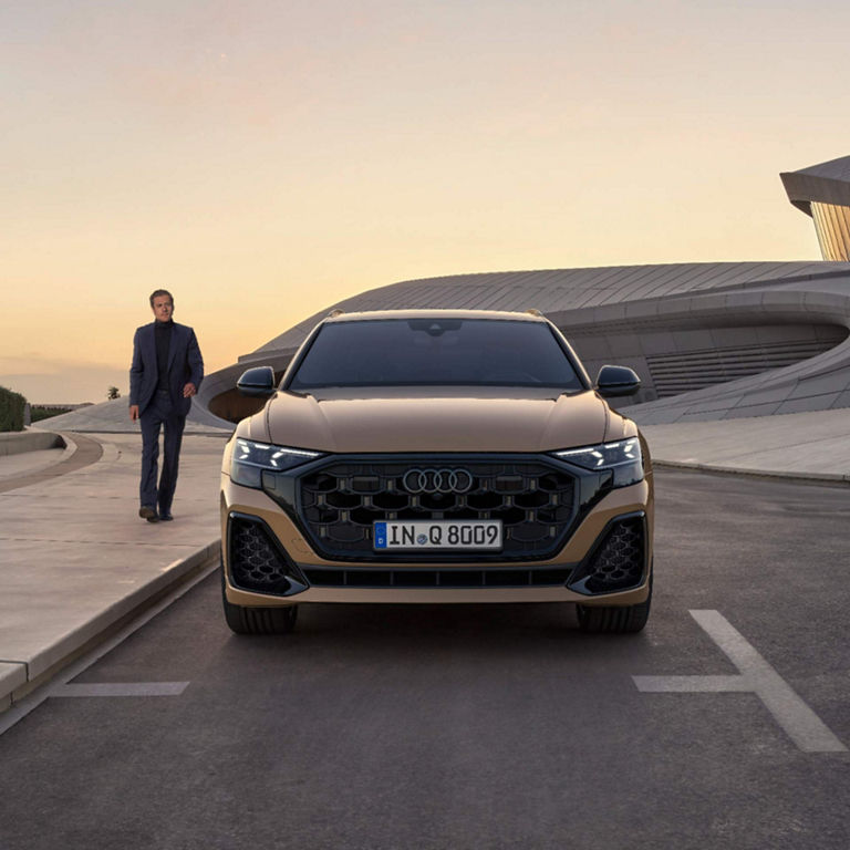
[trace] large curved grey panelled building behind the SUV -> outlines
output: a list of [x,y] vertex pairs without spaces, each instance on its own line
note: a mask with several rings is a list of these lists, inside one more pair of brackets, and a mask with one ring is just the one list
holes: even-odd
[[299,323],[201,387],[201,404],[243,414],[242,370],[282,372],[332,309],[537,308],[588,371],[605,363],[644,381],[630,412],[644,423],[850,406],[850,263],[675,263],[491,272],[410,280],[355,296]]

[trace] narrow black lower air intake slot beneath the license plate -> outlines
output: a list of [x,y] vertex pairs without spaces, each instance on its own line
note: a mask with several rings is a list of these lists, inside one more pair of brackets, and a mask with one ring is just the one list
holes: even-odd
[[545,588],[563,587],[562,567],[539,570],[318,570],[304,576],[315,588]]

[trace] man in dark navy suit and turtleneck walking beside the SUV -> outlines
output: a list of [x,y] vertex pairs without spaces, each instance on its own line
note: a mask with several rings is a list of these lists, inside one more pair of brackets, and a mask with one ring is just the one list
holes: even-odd
[[[142,424],[142,481],[138,516],[148,522],[174,519],[172,499],[183,427],[204,377],[195,331],[177,324],[174,299],[165,289],[151,296],[154,321],[136,330],[129,367],[129,418]],[[156,484],[159,428],[165,433],[163,474]]]

